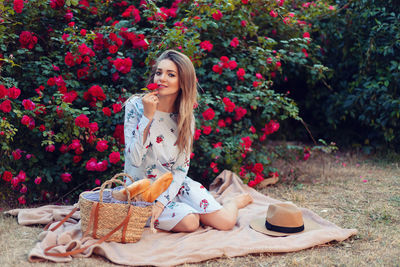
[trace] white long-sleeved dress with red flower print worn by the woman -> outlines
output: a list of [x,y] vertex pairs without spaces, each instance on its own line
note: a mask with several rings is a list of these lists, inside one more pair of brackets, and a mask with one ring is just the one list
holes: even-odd
[[135,180],[154,181],[167,172],[173,175],[171,185],[157,198],[165,209],[155,224],[166,231],[190,213],[205,214],[222,208],[204,186],[187,176],[190,153],[179,154],[175,145],[176,120],[177,114],[157,110],[143,143],[149,119],[143,115],[142,99],[134,97],[125,107],[125,172]]

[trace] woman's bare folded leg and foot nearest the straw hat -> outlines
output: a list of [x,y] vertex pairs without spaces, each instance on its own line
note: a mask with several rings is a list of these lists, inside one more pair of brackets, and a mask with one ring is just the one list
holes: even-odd
[[253,202],[249,194],[241,194],[222,205],[222,209],[207,214],[200,214],[200,221],[218,230],[231,230],[237,220],[238,210]]

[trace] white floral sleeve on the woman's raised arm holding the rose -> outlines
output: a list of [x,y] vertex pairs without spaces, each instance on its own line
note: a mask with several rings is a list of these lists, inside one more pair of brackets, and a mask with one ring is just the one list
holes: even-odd
[[139,167],[147,152],[150,138],[143,144],[143,134],[150,122],[143,115],[143,104],[140,97],[128,101],[125,107],[124,135],[125,135],[125,164]]

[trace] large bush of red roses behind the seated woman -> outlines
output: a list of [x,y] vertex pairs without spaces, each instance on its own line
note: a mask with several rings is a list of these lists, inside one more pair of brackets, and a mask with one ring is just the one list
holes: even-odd
[[[190,176],[231,169],[250,186],[277,170],[263,149],[298,117],[286,68],[323,69],[308,23],[327,1],[37,0],[0,4],[1,186],[21,204],[66,201],[123,170],[123,103],[168,48],[196,66]],[[149,85],[149,89],[152,86]]]

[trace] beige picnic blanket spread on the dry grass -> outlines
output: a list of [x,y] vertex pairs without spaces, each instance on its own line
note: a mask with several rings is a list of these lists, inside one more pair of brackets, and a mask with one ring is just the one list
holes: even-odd
[[[74,257],[90,257],[92,253],[104,256],[110,261],[123,265],[174,266],[183,263],[201,262],[222,256],[234,257],[250,253],[291,252],[324,244],[333,240],[343,241],[357,234],[356,229],[342,229],[324,220],[308,209],[302,208],[303,216],[321,225],[321,229],[287,237],[271,237],[256,232],[249,227],[252,219],[265,216],[270,203],[279,200],[265,196],[253,188],[244,185],[241,179],[230,171],[223,171],[211,184],[210,192],[218,201],[231,198],[237,194],[250,193],[254,202],[239,211],[236,226],[231,231],[218,231],[211,227],[200,227],[193,233],[151,233],[145,229],[142,239],[137,243],[121,244],[103,242],[87,249]],[[61,220],[72,210],[73,206],[43,206],[32,209],[15,209],[6,213],[18,216],[18,223],[45,224]],[[65,252],[94,243],[92,238],[84,238],[80,229],[79,212],[74,214],[76,220],[66,222],[55,232],[43,231],[39,242],[28,255],[30,262],[50,260],[70,262],[71,256],[57,258],[44,255],[46,247],[58,244],[52,252]]]

